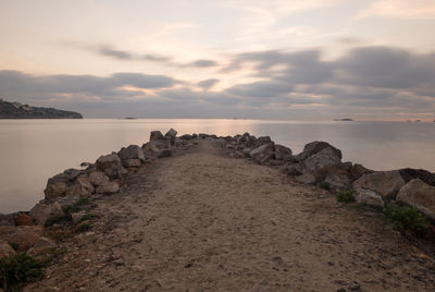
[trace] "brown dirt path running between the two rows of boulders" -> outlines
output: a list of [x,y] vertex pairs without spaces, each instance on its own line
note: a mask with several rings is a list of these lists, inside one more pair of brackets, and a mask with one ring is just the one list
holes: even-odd
[[[434,291],[435,265],[376,218],[208,143],[98,203],[44,291]],[[345,290],[341,290],[345,291]]]

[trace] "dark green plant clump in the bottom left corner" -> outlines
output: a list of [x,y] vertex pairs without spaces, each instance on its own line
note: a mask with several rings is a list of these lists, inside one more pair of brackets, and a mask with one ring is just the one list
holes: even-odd
[[5,291],[16,291],[42,276],[42,264],[24,253],[0,259],[0,287]]

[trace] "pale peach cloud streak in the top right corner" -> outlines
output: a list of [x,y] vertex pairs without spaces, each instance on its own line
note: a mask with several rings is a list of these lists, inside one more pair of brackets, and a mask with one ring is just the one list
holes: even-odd
[[376,0],[362,10],[357,17],[370,16],[434,20],[435,2],[433,0]]

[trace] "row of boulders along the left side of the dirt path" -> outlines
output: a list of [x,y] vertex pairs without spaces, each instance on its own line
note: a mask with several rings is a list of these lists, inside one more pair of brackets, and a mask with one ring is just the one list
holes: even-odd
[[[53,222],[70,220],[78,224],[85,211],[70,214],[69,208],[84,198],[112,195],[120,192],[124,177],[129,171],[146,166],[148,161],[170,157],[198,144],[198,135],[177,137],[173,129],[163,135],[150,134],[142,147],[129,145],[117,153],[100,156],[95,163],[82,163],[86,169],[67,169],[47,182],[45,198],[27,212],[0,214],[0,258],[16,252],[38,255],[55,246],[50,240],[49,227]],[[12,246],[15,247],[12,248]]]

